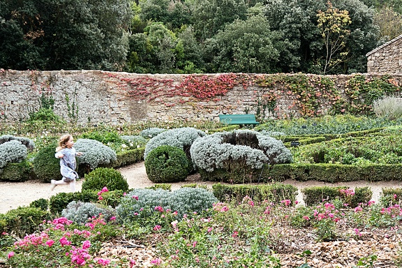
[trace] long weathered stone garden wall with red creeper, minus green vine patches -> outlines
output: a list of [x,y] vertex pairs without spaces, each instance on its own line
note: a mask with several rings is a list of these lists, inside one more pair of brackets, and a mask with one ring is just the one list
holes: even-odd
[[[209,74],[214,80],[222,74]],[[272,117],[261,101],[277,94],[276,116],[298,117],[295,96],[287,94],[284,84],[259,87],[256,78],[274,75],[238,74],[246,84],[235,84],[224,96],[195,98],[180,91],[189,75],[140,75],[98,70],[17,71],[0,70],[0,123],[21,121],[36,112],[44,100],[54,100],[54,113],[78,124],[124,124],[137,121],[218,121],[218,114],[259,114]],[[285,75],[285,74],[283,74]],[[313,77],[314,75],[310,75]],[[373,77],[373,75],[367,75]],[[350,75],[330,76],[343,92]],[[402,84],[402,75],[394,76]],[[245,83],[245,82],[244,82]],[[317,91],[318,92],[318,91]],[[331,100],[322,98],[318,114],[331,108]]]

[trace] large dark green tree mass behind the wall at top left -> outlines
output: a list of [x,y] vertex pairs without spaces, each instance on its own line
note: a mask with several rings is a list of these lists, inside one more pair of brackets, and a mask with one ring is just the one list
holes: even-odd
[[124,64],[130,1],[13,0],[0,13],[1,68],[119,70]]

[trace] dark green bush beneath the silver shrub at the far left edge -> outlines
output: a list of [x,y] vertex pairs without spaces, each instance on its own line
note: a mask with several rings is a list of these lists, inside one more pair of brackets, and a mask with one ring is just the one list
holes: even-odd
[[34,166],[26,160],[8,163],[0,172],[0,181],[28,181],[34,178]]

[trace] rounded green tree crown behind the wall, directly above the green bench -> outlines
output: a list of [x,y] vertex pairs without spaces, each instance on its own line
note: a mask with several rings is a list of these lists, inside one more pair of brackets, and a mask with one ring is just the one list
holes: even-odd
[[287,45],[278,40],[262,15],[234,20],[207,42],[210,68],[214,73],[272,73]]

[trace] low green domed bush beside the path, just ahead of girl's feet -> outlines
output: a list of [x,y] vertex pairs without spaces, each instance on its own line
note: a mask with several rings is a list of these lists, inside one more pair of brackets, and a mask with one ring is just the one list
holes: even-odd
[[113,168],[96,168],[85,174],[82,190],[101,191],[103,187],[109,191],[128,191],[127,180]]

